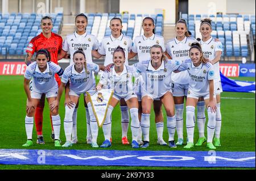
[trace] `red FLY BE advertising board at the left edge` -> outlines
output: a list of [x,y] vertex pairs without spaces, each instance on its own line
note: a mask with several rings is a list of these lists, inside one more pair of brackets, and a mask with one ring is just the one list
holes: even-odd
[[24,62],[0,62],[0,75],[24,75],[26,68]]

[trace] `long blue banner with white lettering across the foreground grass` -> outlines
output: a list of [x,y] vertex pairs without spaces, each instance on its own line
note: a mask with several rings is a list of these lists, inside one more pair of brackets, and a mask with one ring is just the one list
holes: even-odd
[[255,152],[0,149],[0,164],[255,168]]

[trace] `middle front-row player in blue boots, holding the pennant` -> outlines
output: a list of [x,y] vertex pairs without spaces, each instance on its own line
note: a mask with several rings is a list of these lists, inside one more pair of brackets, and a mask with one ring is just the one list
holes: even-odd
[[125,51],[119,46],[113,53],[113,63],[113,68],[111,68],[108,73],[104,72],[96,87],[97,90],[101,90],[101,87],[103,85],[107,85],[108,81],[110,81],[110,89],[114,89],[114,95],[109,103],[105,123],[102,127],[105,141],[101,145],[101,148],[108,148],[111,146],[110,132],[112,122],[110,117],[114,107],[122,98],[125,99],[131,113],[131,134],[133,137],[131,146],[133,148],[139,148],[139,144],[137,142],[139,131],[138,99],[137,95],[135,95],[133,91],[133,77],[136,76],[136,70],[132,66],[125,65]]

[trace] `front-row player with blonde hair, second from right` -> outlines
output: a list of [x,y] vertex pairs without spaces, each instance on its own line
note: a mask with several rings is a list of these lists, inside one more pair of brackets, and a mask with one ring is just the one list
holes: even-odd
[[153,45],[150,48],[151,59],[138,62],[134,66],[141,72],[142,83],[142,117],[141,128],[143,134],[143,145],[141,148],[149,146],[150,132],[150,112],[154,99],[160,99],[167,113],[167,128],[169,133],[169,146],[176,148],[174,133],[176,129],[176,119],[174,111],[174,98],[171,92],[171,73],[175,64],[166,61],[160,45]]

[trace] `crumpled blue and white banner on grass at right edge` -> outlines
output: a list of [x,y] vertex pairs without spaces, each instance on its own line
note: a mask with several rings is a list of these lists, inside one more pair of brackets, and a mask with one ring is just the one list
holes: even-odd
[[227,92],[254,92],[255,93],[255,82],[248,81],[237,81],[225,77],[221,71],[221,85],[222,90]]

